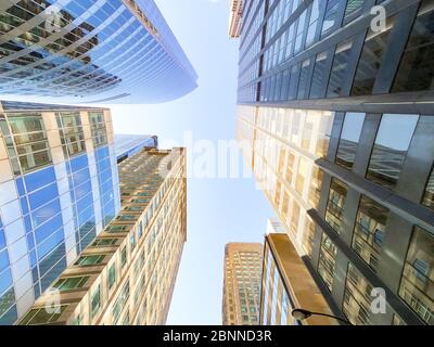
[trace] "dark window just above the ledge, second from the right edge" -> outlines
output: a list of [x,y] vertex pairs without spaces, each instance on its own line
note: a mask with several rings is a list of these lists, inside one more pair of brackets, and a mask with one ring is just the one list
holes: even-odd
[[375,33],[371,29],[369,30],[359,65],[357,66],[352,91],[353,95],[372,94],[393,26],[394,20],[387,18],[387,29],[385,31]]

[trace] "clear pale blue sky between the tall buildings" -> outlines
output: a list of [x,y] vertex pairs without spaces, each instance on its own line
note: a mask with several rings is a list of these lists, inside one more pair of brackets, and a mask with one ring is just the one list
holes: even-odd
[[[234,138],[239,42],[228,38],[229,2],[156,0],[200,87],[171,103],[113,106],[115,132],[157,134],[161,147],[188,145],[186,131],[214,144]],[[188,151],[189,158],[201,154]],[[188,184],[188,242],[167,323],[221,324],[225,244],[263,242],[273,211],[253,179],[192,178]]]

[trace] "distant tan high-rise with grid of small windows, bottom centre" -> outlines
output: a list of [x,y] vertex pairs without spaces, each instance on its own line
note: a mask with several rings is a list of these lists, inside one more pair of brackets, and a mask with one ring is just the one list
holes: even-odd
[[263,252],[260,243],[226,245],[224,325],[258,325]]

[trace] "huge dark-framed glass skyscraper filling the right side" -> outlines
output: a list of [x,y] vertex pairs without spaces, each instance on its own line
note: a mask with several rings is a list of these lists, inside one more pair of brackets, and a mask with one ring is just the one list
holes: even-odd
[[433,324],[434,1],[378,2],[243,1],[237,138],[336,316]]

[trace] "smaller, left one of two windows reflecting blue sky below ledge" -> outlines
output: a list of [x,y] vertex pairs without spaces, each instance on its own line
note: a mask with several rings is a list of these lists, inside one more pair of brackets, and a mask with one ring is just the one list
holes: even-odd
[[347,170],[353,169],[363,123],[363,113],[347,113],[345,115],[341,140],[337,147],[336,164]]

